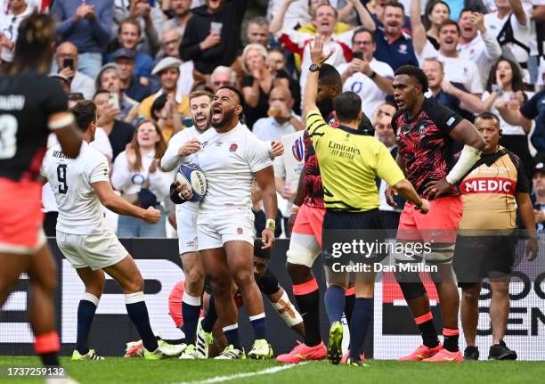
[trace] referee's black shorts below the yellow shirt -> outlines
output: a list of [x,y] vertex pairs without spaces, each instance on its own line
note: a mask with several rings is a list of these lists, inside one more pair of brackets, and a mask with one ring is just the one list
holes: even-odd
[[326,273],[337,274],[339,266],[380,262],[387,256],[385,249],[380,246],[385,243],[385,239],[386,233],[378,209],[365,212],[326,210],[321,236]]

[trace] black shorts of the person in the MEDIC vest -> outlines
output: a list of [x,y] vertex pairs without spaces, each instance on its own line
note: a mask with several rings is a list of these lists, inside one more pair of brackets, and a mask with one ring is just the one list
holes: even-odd
[[494,273],[510,274],[517,255],[517,237],[512,234],[461,236],[456,238],[453,268],[458,284],[481,282]]

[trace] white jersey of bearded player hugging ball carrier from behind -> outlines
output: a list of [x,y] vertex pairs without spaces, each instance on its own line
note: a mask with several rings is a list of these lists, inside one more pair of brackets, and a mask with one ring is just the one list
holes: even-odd
[[[161,159],[161,168],[164,171],[170,172],[175,171],[182,164],[189,164],[195,162],[195,155],[190,155],[186,158],[183,158],[178,154],[178,150],[183,144],[189,142],[191,139],[199,139],[201,133],[197,130],[195,126],[185,128],[183,131],[178,132],[176,135],[170,138],[168,142],[167,151]],[[183,204],[176,204],[176,210],[189,209],[193,212],[196,212],[199,209],[199,201],[187,201]]]

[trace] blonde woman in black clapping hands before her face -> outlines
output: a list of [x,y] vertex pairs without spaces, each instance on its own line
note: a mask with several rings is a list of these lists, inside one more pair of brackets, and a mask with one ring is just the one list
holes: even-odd
[[246,104],[244,115],[248,128],[252,129],[259,118],[267,116],[269,94],[273,87],[289,87],[289,78],[285,72],[277,72],[269,66],[268,52],[263,45],[247,45],[242,52],[241,64],[247,75],[242,80],[242,94]]

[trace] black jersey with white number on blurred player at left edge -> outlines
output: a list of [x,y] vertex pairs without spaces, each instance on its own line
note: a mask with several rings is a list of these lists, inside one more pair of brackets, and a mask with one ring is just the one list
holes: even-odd
[[37,72],[0,77],[0,177],[33,180],[45,154],[51,115],[68,109],[53,78]]

